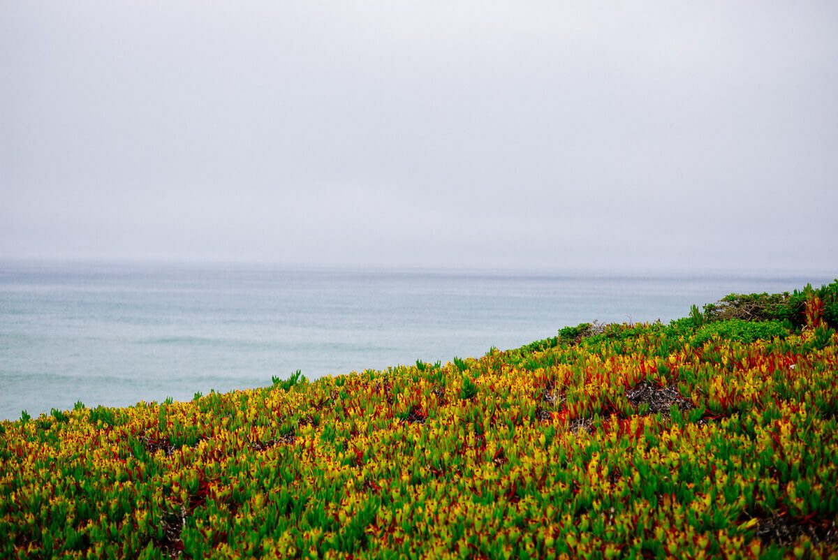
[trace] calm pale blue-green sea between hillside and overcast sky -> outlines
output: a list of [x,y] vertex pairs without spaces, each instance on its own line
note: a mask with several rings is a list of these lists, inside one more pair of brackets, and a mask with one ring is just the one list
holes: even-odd
[[830,280],[0,263],[0,418],[445,362]]

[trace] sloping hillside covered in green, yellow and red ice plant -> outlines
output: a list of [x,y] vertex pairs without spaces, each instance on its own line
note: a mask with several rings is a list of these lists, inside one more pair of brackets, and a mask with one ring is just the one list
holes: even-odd
[[838,282],[0,423],[0,557],[838,557]]

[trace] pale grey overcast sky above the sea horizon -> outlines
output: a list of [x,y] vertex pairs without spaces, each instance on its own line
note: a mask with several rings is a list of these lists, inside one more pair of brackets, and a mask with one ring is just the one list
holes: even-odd
[[838,3],[0,3],[0,259],[838,271]]

